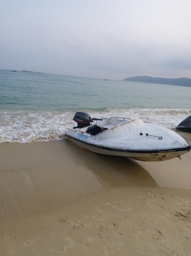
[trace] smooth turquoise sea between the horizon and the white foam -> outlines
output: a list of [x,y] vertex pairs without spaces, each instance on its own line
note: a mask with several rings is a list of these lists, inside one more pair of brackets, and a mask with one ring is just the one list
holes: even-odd
[[191,88],[0,70],[0,109],[191,108]]

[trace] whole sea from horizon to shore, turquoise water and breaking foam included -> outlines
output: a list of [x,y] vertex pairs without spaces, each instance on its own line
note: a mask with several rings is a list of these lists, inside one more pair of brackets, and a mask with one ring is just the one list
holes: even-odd
[[191,115],[191,87],[0,70],[0,142],[63,139],[76,111],[172,128]]

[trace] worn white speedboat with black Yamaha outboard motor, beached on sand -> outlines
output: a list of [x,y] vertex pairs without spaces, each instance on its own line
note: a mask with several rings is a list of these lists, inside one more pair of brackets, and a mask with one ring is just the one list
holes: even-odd
[[[178,133],[141,121],[140,118],[91,118],[76,112],[77,126],[65,136],[95,153],[125,156],[140,161],[165,161],[190,151],[190,144]],[[95,122],[96,121],[96,122]]]

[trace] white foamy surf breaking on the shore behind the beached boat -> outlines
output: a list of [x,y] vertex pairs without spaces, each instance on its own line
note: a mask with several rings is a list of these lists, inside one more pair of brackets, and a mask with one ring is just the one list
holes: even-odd
[[[91,117],[140,117],[145,122],[176,127],[191,115],[190,109],[116,109],[81,110]],[[66,139],[64,133],[76,123],[75,112],[0,111],[0,142],[36,142]]]

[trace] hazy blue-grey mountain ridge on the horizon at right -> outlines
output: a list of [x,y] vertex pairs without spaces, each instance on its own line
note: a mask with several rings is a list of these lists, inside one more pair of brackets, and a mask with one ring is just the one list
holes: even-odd
[[123,81],[132,81],[132,82],[143,82],[143,83],[153,83],[161,85],[179,85],[179,86],[190,86],[190,78],[162,78],[162,77],[152,77],[152,76],[133,76],[123,79]]

